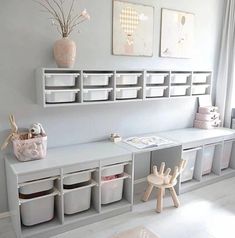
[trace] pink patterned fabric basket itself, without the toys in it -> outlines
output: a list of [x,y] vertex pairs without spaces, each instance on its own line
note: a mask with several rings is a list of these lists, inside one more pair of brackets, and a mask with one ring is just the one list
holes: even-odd
[[19,161],[44,159],[47,152],[47,136],[12,141],[13,151]]

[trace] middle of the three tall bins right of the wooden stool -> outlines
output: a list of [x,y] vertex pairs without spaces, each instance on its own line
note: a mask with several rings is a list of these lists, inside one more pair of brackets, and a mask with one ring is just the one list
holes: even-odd
[[215,145],[206,146],[203,150],[202,156],[202,174],[209,174],[212,169],[213,159],[215,153]]

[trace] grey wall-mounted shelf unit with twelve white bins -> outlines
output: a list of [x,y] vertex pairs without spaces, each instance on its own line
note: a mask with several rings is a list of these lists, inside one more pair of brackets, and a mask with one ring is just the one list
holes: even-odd
[[43,107],[75,106],[210,95],[212,71],[40,68],[36,81]]

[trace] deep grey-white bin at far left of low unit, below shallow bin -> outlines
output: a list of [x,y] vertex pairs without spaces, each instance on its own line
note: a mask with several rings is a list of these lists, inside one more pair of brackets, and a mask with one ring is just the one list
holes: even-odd
[[54,217],[54,196],[40,198],[21,204],[21,221],[25,226],[33,226],[50,221]]

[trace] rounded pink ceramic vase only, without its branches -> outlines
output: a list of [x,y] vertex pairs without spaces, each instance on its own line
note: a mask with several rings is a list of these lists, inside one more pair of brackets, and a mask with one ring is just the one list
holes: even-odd
[[72,68],[76,58],[76,44],[68,37],[57,40],[54,44],[54,58],[59,68]]

